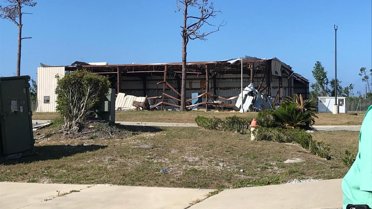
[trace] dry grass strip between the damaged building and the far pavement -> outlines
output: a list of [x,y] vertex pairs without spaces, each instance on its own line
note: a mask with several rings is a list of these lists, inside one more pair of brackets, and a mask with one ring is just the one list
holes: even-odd
[[[190,112],[178,111],[128,111],[116,112],[116,121],[131,122],[164,122],[164,123],[195,123],[196,116],[225,118],[227,116],[250,116],[256,117],[257,113],[239,113],[239,112],[204,112],[201,110]],[[34,112],[32,119],[50,120],[58,117],[58,113],[38,113]],[[361,125],[363,113],[358,115],[332,113],[318,113],[319,118],[315,118],[315,125]]]

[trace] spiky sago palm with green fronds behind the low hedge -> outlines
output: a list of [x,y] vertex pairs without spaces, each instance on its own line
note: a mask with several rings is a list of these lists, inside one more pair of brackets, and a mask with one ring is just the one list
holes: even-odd
[[296,103],[289,103],[288,105],[280,106],[275,110],[275,115],[280,126],[283,128],[300,128],[305,130],[314,129],[312,128],[314,118],[308,112],[298,109]]

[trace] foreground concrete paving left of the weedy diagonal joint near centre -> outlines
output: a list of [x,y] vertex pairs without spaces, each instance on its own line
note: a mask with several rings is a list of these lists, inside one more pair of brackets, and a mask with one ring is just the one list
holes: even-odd
[[[80,190],[72,192],[71,190]],[[60,194],[69,193],[64,196]],[[0,182],[0,208],[187,208],[209,189]]]

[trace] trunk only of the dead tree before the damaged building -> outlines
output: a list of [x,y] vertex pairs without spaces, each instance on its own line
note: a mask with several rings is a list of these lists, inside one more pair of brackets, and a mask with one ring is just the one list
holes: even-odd
[[182,30],[182,81],[181,81],[181,107],[180,111],[185,111],[186,109],[186,46],[187,46],[187,31],[186,31],[186,20],[187,20],[187,1],[185,1],[185,11],[183,12],[183,30]]

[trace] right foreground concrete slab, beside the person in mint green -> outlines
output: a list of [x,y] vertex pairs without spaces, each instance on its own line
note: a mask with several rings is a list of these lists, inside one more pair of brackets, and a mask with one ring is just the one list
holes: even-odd
[[228,189],[197,203],[190,209],[204,208],[342,208],[341,180]]

